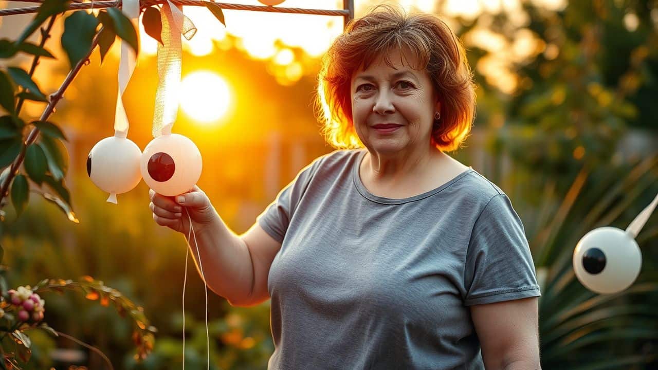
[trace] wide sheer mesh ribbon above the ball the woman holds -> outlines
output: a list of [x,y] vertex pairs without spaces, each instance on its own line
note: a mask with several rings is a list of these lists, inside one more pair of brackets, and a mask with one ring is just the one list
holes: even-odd
[[171,133],[180,100],[181,40],[193,38],[197,28],[190,18],[167,0],[160,13],[163,30],[163,44],[158,43],[158,88],[155,92],[155,112],[153,113],[153,137]]

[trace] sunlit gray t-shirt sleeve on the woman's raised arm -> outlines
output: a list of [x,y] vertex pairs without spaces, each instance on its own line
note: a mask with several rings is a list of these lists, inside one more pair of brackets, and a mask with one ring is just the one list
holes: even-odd
[[313,175],[317,171],[321,159],[322,157],[316,159],[299,171],[295,179],[283,188],[274,201],[256,218],[257,223],[274,240],[280,243],[283,242],[290,220],[295,214],[295,209],[297,209],[299,201],[301,201]]

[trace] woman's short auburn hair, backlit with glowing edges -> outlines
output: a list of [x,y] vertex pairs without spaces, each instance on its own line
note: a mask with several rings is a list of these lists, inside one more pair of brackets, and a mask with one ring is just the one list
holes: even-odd
[[[461,147],[475,115],[475,89],[466,52],[457,36],[432,14],[405,14],[378,5],[351,20],[322,59],[316,111],[322,133],[336,148],[363,147],[354,129],[351,76],[357,68],[383,57],[390,66],[392,51],[415,55],[417,70],[426,70],[441,102],[441,118],[432,128],[432,144],[442,151]],[[409,58],[406,57],[407,62]]]

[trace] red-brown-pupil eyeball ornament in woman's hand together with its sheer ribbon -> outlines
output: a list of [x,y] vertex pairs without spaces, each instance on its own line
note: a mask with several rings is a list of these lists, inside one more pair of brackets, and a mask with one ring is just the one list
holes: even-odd
[[153,137],[141,154],[141,176],[164,196],[190,191],[201,176],[201,152],[189,138],[172,134],[178,115],[181,71],[180,35],[190,40],[196,28],[182,11],[166,1],[161,12],[162,40],[158,43],[158,88],[155,93]]

